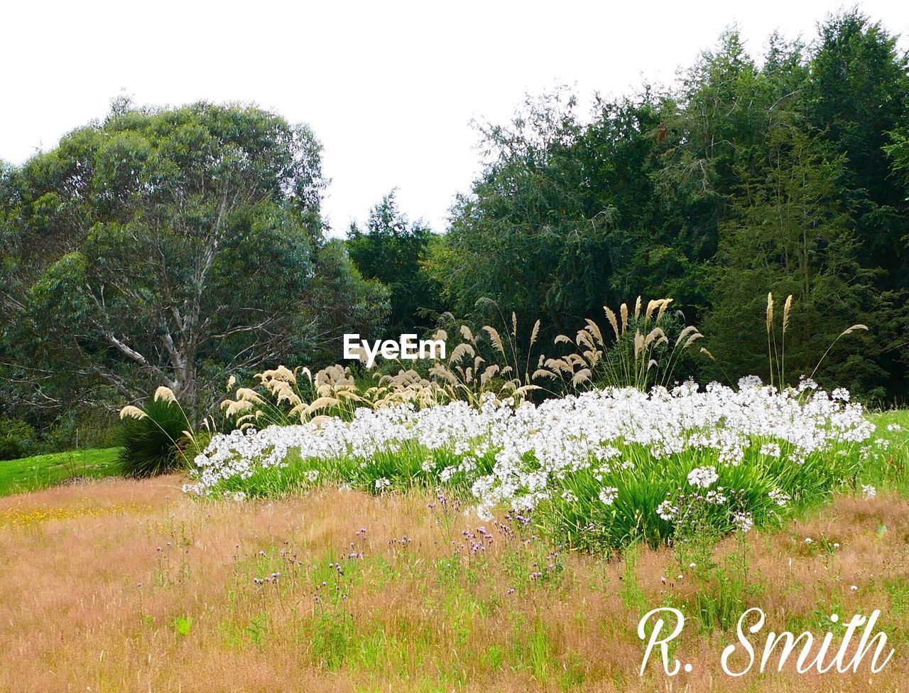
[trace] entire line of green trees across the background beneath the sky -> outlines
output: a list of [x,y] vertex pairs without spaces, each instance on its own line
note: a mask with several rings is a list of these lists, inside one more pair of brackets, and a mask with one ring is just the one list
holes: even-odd
[[704,333],[684,376],[765,376],[773,292],[791,377],[861,323],[815,377],[909,397],[909,61],[884,26],[849,11],[763,55],[731,29],[673,85],[590,111],[556,91],[480,133],[447,228],[393,191],[341,239],[316,134],[253,106],[115,100],[0,164],[0,422],[68,431],[162,384],[205,411],[228,374],[446,312],[551,344],[639,295]]

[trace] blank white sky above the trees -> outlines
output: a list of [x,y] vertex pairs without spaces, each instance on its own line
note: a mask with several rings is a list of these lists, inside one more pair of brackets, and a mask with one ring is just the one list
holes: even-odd
[[[472,119],[504,122],[527,92],[622,95],[667,83],[737,22],[760,53],[774,29],[814,37],[839,4],[761,2],[17,2],[0,6],[0,158],[140,104],[252,101],[313,127],[335,231],[392,187],[436,230],[479,169]],[[909,3],[862,9],[909,35]],[[901,45],[906,45],[901,41]]]

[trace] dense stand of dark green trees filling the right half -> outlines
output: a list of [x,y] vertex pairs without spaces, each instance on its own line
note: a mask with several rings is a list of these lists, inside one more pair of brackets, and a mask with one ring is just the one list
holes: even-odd
[[792,294],[789,377],[864,323],[861,353],[837,345],[817,376],[906,397],[907,65],[848,11],[810,46],[772,36],[763,60],[726,31],[673,87],[586,120],[564,93],[528,100],[482,128],[483,173],[432,249],[446,306],[485,319],[488,296],[548,339],[626,296],[672,296],[735,380],[768,375],[757,296]]

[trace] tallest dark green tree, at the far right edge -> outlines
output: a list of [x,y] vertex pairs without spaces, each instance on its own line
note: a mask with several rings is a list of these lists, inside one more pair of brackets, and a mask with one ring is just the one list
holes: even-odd
[[[909,126],[909,58],[896,36],[858,10],[820,26],[805,89],[806,110],[836,151],[846,176],[839,195],[854,217],[858,258],[877,270],[874,286],[889,315],[873,327],[894,395],[909,393],[909,201],[892,133]],[[897,140],[898,144],[898,140]]]

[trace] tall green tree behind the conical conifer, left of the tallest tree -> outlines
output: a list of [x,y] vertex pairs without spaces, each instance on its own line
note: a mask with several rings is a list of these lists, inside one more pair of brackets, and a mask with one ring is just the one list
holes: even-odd
[[761,166],[768,129],[789,117],[805,75],[801,44],[774,35],[758,65],[733,27],[664,95],[652,174],[661,215],[640,264],[655,276],[673,267],[664,286],[684,305],[711,304],[703,266],[734,214],[733,191]]

